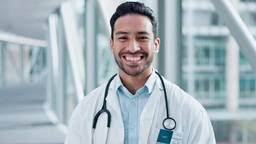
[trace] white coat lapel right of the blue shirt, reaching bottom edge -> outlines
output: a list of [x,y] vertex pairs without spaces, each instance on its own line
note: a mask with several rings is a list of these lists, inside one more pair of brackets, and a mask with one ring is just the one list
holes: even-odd
[[147,143],[151,125],[153,122],[153,118],[154,118],[155,112],[157,111],[156,110],[157,102],[159,101],[159,98],[161,98],[161,95],[163,94],[161,92],[161,89],[162,89],[161,81],[159,80],[159,78],[157,76],[155,88],[152,91],[152,93],[151,93],[142,113],[141,113],[140,128],[139,128],[139,143],[140,144]]

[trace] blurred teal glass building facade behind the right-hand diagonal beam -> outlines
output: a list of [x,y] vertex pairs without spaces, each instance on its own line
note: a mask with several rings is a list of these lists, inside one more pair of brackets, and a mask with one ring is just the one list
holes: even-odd
[[[256,7],[255,1],[241,0],[238,7],[240,16],[249,29],[254,29],[256,13],[250,7]],[[216,14],[210,0],[182,1],[181,87],[210,111],[226,111],[225,68],[229,36],[228,29]],[[251,110],[256,107],[256,75],[241,52],[238,59],[238,111]],[[256,142],[254,119],[239,116],[227,120],[219,118],[212,120],[212,124],[217,143]]]

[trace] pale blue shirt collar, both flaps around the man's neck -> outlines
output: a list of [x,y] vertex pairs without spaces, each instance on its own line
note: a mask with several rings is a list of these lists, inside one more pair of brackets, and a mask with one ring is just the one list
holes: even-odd
[[[152,73],[150,74],[149,78],[147,79],[146,83],[144,86],[147,87],[148,92],[147,94],[151,93],[155,87],[155,78],[156,78],[156,74],[155,74],[155,69],[153,68]],[[123,86],[123,83],[121,81],[121,78],[119,76],[119,73],[117,73],[116,79],[115,79],[115,91],[117,91],[117,89]]]

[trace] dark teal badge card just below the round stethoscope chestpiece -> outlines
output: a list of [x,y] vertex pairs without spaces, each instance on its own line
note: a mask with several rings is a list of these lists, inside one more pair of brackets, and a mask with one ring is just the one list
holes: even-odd
[[156,144],[170,144],[173,131],[160,129]]

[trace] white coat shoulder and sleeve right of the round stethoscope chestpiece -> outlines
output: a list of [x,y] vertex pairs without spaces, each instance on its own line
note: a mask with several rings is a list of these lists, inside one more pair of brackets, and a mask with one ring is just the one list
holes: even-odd
[[214,132],[206,110],[179,86],[164,79],[170,110],[180,122],[185,143],[215,144]]

